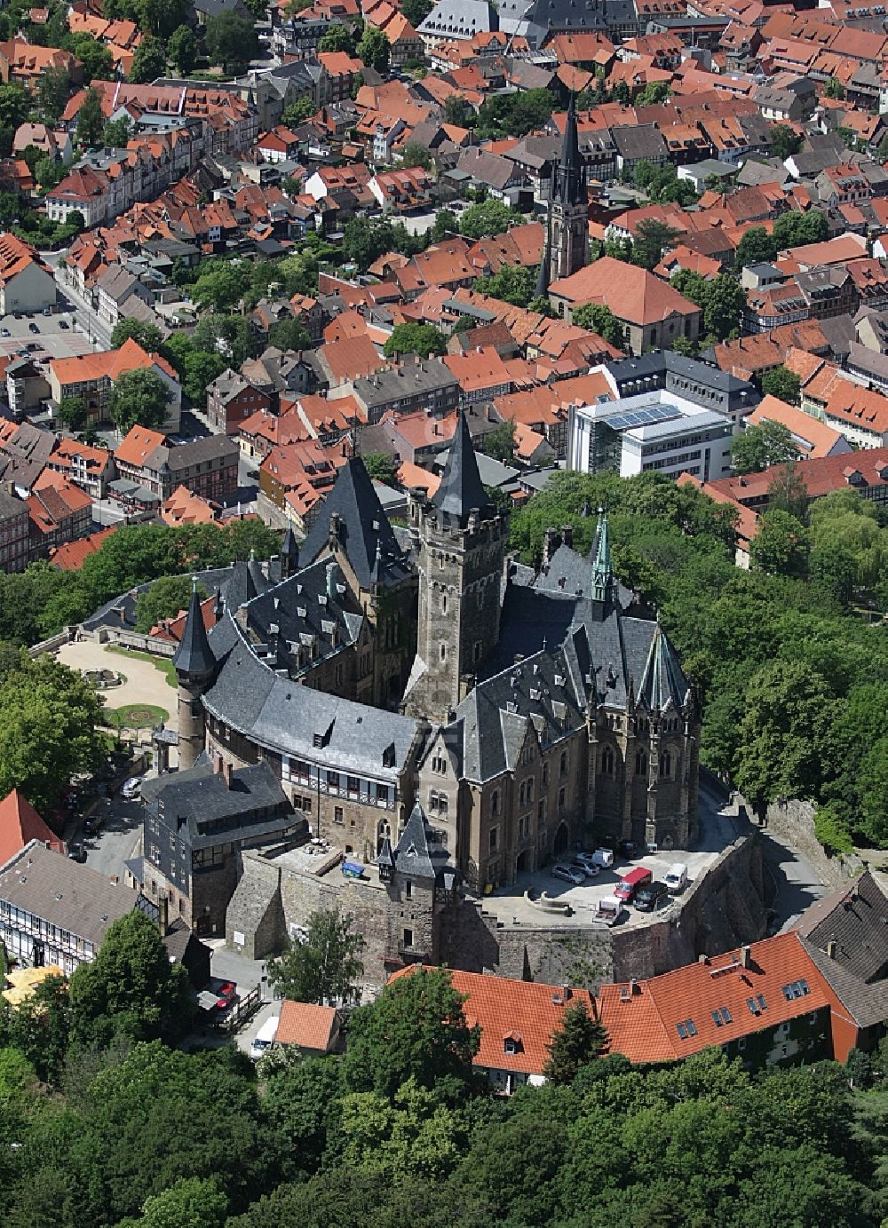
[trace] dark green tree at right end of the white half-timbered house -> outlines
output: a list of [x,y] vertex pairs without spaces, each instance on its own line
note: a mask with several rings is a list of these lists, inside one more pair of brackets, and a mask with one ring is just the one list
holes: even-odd
[[86,1044],[115,1035],[176,1041],[195,1012],[187,970],[171,963],[157,926],[138,910],[113,921],[93,962],[77,965],[70,998],[74,1035]]

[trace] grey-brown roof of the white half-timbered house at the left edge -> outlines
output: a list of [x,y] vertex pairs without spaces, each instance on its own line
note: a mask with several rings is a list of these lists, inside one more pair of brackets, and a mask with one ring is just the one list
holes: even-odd
[[108,926],[131,912],[139,893],[63,857],[39,840],[0,869],[0,900],[41,917],[98,948]]

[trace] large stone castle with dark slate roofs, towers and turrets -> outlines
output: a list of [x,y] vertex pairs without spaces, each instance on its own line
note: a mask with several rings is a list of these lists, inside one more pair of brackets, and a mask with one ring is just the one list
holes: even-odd
[[607,516],[588,558],[565,527],[539,572],[517,562],[464,418],[405,527],[352,458],[307,539],[248,570],[211,618],[192,597],[181,769],[264,761],[316,836],[380,866],[418,808],[478,894],[606,840],[695,840],[695,698]]

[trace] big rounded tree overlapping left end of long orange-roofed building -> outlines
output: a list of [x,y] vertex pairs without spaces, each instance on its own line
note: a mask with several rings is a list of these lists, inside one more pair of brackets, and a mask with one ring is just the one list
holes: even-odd
[[446,1084],[458,1095],[470,1086],[479,1044],[480,1029],[465,1023],[463,996],[447,969],[420,968],[351,1016],[344,1074],[355,1090],[389,1099],[410,1078],[419,1087]]

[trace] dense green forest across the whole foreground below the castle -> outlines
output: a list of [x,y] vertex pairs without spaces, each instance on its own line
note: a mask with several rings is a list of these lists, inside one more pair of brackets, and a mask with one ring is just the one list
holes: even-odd
[[[174,1047],[181,966],[141,914],[0,1017],[7,1228],[877,1226],[888,1055],[763,1074],[633,1067],[553,1039],[511,1099],[446,969],[387,986],[341,1056]],[[567,1028],[565,1025],[564,1032]]]

